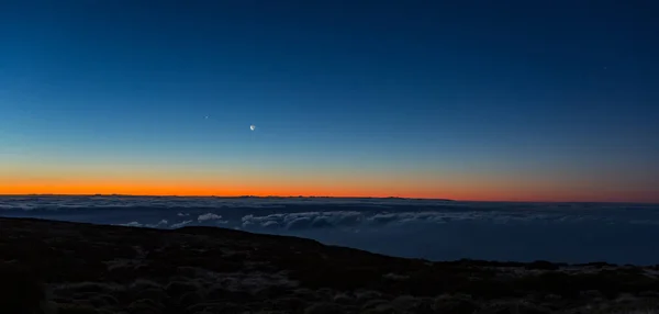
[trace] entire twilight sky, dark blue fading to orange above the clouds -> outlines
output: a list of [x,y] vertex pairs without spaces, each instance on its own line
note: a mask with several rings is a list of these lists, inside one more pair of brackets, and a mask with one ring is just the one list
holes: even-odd
[[659,202],[655,2],[2,1],[0,193]]

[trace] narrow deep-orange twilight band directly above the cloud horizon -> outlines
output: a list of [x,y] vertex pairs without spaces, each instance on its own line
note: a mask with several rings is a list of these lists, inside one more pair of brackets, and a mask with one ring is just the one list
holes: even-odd
[[[481,188],[480,191],[477,188]],[[58,195],[152,195],[152,197],[333,197],[333,198],[413,198],[413,199],[450,199],[460,201],[529,201],[529,202],[639,202],[659,203],[651,193],[634,193],[625,197],[602,197],[597,193],[551,193],[524,191],[511,193],[506,190],[490,187],[422,187],[398,188],[346,186],[343,188],[324,187],[323,184],[254,184],[237,182],[233,184],[177,184],[172,182],[60,182],[60,183],[7,183],[0,182],[0,194],[58,194]]]

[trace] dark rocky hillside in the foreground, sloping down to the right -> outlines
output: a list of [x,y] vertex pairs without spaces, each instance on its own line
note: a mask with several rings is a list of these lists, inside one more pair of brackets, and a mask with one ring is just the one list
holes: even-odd
[[214,227],[0,218],[0,313],[655,313],[659,267],[431,262]]

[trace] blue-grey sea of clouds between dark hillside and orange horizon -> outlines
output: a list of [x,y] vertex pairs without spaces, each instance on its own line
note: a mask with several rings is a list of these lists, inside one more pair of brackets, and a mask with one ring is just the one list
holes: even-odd
[[455,260],[659,263],[659,205],[403,199],[0,197],[0,215],[216,226]]

